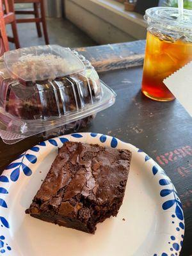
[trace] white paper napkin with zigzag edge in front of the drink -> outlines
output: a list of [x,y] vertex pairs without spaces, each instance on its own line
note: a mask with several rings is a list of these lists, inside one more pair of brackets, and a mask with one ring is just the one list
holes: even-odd
[[163,83],[192,116],[192,61],[164,79]]

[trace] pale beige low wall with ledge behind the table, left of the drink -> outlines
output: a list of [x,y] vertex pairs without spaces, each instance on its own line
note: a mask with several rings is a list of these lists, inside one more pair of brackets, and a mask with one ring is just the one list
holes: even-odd
[[146,37],[142,15],[125,12],[124,4],[113,0],[65,0],[65,15],[99,44]]

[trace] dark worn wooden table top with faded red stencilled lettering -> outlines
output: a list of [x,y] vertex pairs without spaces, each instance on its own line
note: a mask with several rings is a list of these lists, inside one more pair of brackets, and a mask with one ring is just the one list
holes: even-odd
[[[142,148],[162,166],[182,201],[186,230],[180,255],[189,256],[192,255],[192,118],[177,100],[156,102],[142,95],[144,49],[144,41],[77,49],[92,61],[100,78],[117,94],[116,103],[98,113],[90,127],[82,131],[113,134]],[[17,155],[40,141],[40,136],[15,145],[0,141],[1,172]]]

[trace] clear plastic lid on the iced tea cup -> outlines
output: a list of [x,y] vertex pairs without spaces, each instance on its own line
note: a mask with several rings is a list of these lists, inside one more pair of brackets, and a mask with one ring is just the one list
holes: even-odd
[[145,20],[148,24],[156,22],[157,26],[171,31],[192,33],[192,10],[184,9],[181,20],[178,8],[154,7],[146,10]]

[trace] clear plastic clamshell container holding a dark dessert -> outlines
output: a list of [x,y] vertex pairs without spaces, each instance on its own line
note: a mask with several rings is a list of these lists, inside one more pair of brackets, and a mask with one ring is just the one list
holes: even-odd
[[5,52],[0,83],[0,136],[6,143],[77,131],[116,96],[90,61],[58,45]]

